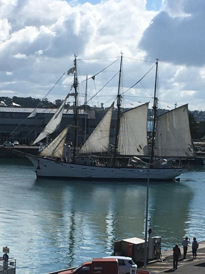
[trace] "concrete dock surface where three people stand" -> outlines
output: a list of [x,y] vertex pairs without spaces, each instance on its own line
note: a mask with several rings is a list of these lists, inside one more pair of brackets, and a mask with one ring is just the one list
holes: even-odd
[[[173,269],[173,250],[162,251],[161,261],[152,261],[147,265],[147,271],[155,273],[179,272],[187,274],[205,273],[205,241],[199,243],[196,259],[193,260],[191,243],[188,246],[186,259],[183,260],[183,248],[181,246],[181,258],[179,258],[177,269]],[[144,267],[138,267],[144,269]]]

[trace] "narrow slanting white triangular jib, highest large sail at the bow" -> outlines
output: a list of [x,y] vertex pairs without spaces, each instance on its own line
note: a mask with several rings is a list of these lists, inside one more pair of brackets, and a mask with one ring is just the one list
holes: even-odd
[[50,121],[48,122],[48,124],[45,126],[45,128],[43,129],[43,131],[39,134],[39,136],[33,142],[33,145],[36,144],[37,142],[41,141],[42,139],[44,139],[45,137],[47,137],[51,133],[53,133],[57,128],[59,128],[60,122],[61,122],[61,119],[62,119],[62,115],[63,115],[63,110],[64,110],[64,107],[65,107],[65,104],[66,104],[67,97],[68,97],[68,95],[64,99],[64,101],[61,104],[61,106],[59,107],[59,109],[56,111],[56,113],[50,119]]

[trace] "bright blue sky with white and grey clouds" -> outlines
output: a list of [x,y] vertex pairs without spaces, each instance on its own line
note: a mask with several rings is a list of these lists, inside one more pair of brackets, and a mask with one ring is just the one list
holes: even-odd
[[[123,52],[121,92],[158,58],[159,107],[188,103],[205,111],[204,14],[204,0],[0,0],[0,96],[43,98],[65,72],[47,98],[65,97],[76,54],[79,82],[117,60],[88,80],[87,100],[107,84],[88,104],[108,107],[118,92],[114,75]],[[125,92],[123,107],[151,107],[154,81],[155,66]],[[80,104],[84,93],[85,82]]]

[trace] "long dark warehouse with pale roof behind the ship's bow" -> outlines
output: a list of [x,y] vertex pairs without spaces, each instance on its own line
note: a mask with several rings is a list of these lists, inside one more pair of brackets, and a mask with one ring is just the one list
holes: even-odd
[[[35,117],[26,119],[33,110],[34,108],[28,107],[0,107],[1,144],[6,140],[18,140],[20,144],[29,144],[29,142],[34,141],[50,121],[57,109],[38,108]],[[60,128],[58,128],[56,132],[53,132],[51,137],[55,138],[67,125],[74,125],[73,117],[73,110],[67,111],[67,109],[65,109]],[[88,135],[90,120],[95,118],[94,112],[91,112],[91,114],[84,114],[83,110],[79,110],[79,144],[84,142],[85,117],[87,118],[86,133]],[[20,126],[18,127],[18,125]],[[73,135],[74,130],[73,128],[70,128],[68,130],[67,141],[73,142]]]

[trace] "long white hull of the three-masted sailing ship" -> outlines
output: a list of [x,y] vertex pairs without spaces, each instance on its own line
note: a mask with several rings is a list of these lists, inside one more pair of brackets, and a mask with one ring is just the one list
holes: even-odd
[[[97,180],[146,180],[147,168],[132,167],[94,167],[88,165],[56,162],[54,160],[27,156],[32,161],[37,177],[53,177],[65,179],[97,179]],[[149,170],[152,181],[174,180],[188,171],[188,168],[153,168]]]

